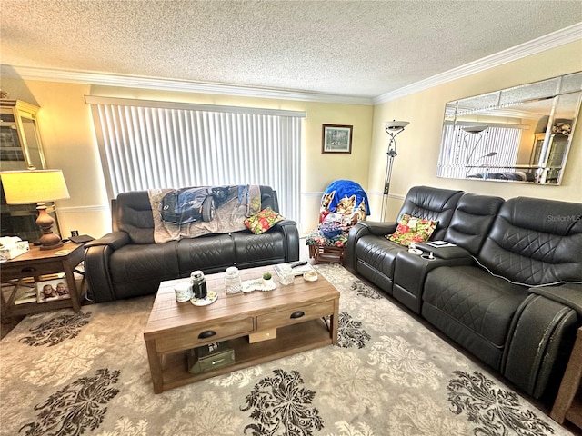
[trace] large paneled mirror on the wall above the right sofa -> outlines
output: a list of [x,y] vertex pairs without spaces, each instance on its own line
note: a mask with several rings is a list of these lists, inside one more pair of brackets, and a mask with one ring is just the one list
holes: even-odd
[[560,184],[581,99],[578,72],[447,103],[437,176]]

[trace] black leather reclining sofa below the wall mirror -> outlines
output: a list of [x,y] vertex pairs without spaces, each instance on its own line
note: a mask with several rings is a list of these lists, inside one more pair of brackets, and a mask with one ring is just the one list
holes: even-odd
[[553,399],[582,325],[582,204],[414,187],[398,215],[438,220],[417,247],[362,222],[346,267],[535,398]]

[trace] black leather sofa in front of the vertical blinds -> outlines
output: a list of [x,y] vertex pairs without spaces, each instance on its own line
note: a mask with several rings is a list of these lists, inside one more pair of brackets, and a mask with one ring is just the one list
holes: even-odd
[[[276,191],[261,186],[261,207],[279,210]],[[120,193],[112,201],[112,233],[85,244],[85,277],[95,302],[156,293],[160,282],[195,270],[224,272],[299,259],[296,222],[284,220],[266,233],[248,230],[154,242],[147,191]]]

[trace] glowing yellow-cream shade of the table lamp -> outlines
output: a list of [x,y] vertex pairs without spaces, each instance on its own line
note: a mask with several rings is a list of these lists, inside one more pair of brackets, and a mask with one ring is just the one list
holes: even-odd
[[69,197],[61,170],[23,170],[0,173],[8,204],[32,204]]

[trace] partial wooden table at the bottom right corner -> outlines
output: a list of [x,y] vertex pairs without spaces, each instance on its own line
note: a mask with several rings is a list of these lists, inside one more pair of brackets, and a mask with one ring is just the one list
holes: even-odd
[[577,331],[576,342],[570,360],[567,362],[564,378],[557,391],[556,401],[550,416],[554,421],[562,424],[570,421],[582,429],[582,398],[577,395],[582,376],[582,327]]

